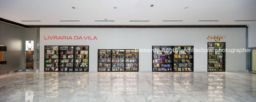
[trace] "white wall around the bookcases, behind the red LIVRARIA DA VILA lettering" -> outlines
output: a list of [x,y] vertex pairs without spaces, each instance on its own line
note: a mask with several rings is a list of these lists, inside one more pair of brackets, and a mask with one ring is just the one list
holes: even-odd
[[[207,48],[208,36],[226,36],[227,48],[245,48],[245,28],[40,28],[40,71],[44,46],[89,46],[89,72],[97,71],[98,49],[135,49],[152,46]],[[98,40],[44,40],[44,36],[96,36]],[[139,72],[152,71],[152,54],[139,53]],[[194,71],[207,71],[207,53],[194,53]],[[226,53],[226,71],[245,72],[245,53]]]

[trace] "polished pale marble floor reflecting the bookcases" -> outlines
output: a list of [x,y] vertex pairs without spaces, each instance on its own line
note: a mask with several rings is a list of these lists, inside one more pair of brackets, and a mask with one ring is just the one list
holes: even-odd
[[256,102],[256,74],[20,72],[0,75],[0,102]]

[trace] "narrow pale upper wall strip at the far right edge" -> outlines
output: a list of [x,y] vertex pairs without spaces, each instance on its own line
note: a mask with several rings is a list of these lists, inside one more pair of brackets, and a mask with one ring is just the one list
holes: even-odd
[[256,24],[248,25],[248,47],[256,47]]

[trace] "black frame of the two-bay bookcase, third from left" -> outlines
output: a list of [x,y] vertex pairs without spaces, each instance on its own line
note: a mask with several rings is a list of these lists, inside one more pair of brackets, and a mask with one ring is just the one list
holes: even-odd
[[[157,47],[157,46],[152,46],[152,50],[153,50],[153,47]],[[164,46],[160,46],[160,47],[164,47]],[[167,46],[168,47],[168,46]],[[172,49],[174,49],[174,47],[176,47],[176,46],[169,46],[169,47],[171,47]],[[181,46],[181,47],[184,47],[184,46]],[[188,46],[185,46],[185,47],[188,47]],[[189,47],[191,47],[191,54],[175,54],[173,51],[172,51],[172,53],[171,53],[171,56],[172,56],[172,58],[171,58],[171,68],[172,68],[172,70],[171,71],[154,71],[153,70],[153,68],[154,68],[154,66],[153,66],[153,62],[151,62],[152,63],[152,72],[194,72],[194,52],[193,52],[193,48],[194,48],[194,46],[189,46]],[[182,48],[181,48],[182,49]],[[184,48],[183,48],[184,49]],[[174,70],[174,55],[192,55],[192,58],[187,58],[187,59],[192,59],[192,66],[191,67],[186,67],[186,68],[191,68],[191,71],[175,71]],[[154,56],[154,52],[152,51],[152,60],[151,61],[153,61],[153,59],[155,59],[155,58],[153,58],[153,56]],[[175,59],[186,59],[186,58],[175,58]],[[177,68],[179,67],[179,65],[177,66]],[[182,69],[182,67],[181,67],[181,69]]]

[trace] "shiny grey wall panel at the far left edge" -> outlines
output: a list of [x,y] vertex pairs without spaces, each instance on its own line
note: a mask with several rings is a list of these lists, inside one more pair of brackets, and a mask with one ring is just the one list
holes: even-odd
[[0,21],[0,46],[7,46],[6,65],[0,65],[0,73],[23,69],[24,28]]

